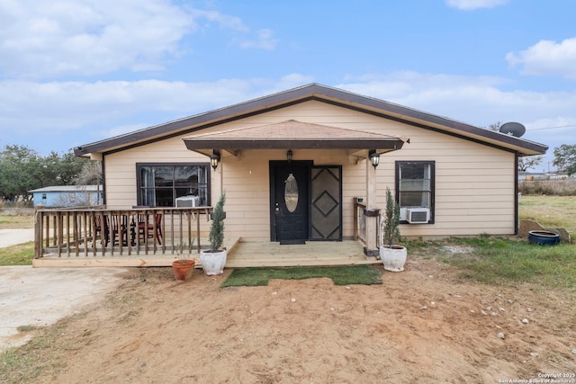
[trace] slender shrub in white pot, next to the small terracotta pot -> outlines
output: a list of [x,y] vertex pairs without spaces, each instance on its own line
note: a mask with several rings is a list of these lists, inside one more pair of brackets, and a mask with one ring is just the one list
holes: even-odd
[[220,200],[212,212],[212,223],[208,242],[210,249],[200,253],[200,263],[202,270],[207,275],[222,274],[226,264],[226,249],[222,248],[224,244],[224,202],[226,193],[220,195]]

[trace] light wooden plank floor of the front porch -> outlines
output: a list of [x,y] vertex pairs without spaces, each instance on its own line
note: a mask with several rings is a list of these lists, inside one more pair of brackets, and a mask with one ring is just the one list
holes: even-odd
[[[364,245],[356,240],[341,242],[309,241],[305,245],[280,246],[273,242],[243,243],[239,239],[226,242],[229,255],[226,268],[282,267],[299,265],[357,265],[381,263],[374,257],[366,257]],[[204,242],[204,244],[206,244]],[[199,255],[191,254],[200,267]],[[171,266],[182,258],[180,255],[81,255],[58,257],[45,255],[34,259],[34,267],[152,267]]]

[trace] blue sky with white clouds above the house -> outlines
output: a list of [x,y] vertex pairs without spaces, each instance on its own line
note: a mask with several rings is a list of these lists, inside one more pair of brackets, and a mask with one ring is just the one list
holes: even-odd
[[42,155],[310,83],[576,144],[573,0],[0,0],[0,147]]

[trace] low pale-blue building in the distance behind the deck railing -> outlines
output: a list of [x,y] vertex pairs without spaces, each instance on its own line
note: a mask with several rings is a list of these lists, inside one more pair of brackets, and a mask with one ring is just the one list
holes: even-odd
[[87,207],[103,203],[102,185],[55,185],[29,191],[34,207]]

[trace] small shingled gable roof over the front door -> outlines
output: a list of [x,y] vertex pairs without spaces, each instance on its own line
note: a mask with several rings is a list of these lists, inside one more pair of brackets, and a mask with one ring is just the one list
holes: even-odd
[[348,155],[365,157],[366,150],[383,154],[400,149],[408,138],[341,129],[302,121],[228,129],[183,138],[185,146],[210,156],[213,150],[232,156],[246,149],[346,149]]

